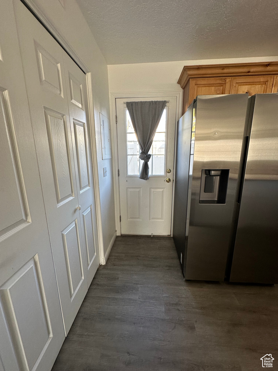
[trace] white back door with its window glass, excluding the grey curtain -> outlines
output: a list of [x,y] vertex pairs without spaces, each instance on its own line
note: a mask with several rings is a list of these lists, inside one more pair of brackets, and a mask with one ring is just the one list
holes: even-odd
[[[149,152],[149,179],[143,180],[139,179],[143,164],[140,148],[124,102],[159,100],[169,102]],[[171,234],[172,220],[176,97],[117,98],[116,112],[121,233],[167,236]]]

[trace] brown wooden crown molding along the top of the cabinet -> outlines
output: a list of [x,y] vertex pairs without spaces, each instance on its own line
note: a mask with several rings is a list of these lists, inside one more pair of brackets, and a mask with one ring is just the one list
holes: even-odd
[[183,89],[191,78],[275,74],[278,74],[278,61],[184,66],[181,76],[179,76],[178,84]]

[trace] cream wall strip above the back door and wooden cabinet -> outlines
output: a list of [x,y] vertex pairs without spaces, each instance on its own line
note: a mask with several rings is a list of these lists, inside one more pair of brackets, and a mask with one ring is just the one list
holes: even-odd
[[275,57],[180,60],[178,62],[108,65],[109,92],[179,90],[178,78],[186,65],[218,63],[271,62]]

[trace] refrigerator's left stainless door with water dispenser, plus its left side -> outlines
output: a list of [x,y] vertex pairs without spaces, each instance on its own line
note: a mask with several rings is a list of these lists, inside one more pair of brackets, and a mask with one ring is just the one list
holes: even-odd
[[248,111],[247,94],[203,95],[178,122],[173,238],[186,279],[225,278]]

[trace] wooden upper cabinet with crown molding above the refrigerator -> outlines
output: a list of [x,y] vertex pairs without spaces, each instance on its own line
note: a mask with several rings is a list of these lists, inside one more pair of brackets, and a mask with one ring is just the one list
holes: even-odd
[[182,114],[197,95],[276,93],[278,62],[184,66]]

